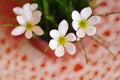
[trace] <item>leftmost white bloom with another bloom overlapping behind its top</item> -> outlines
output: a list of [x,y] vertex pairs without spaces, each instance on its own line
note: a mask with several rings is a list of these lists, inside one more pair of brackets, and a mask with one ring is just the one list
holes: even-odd
[[[30,8],[31,6],[33,8]],[[11,32],[13,36],[18,36],[25,32],[25,37],[30,39],[33,35],[33,32],[37,35],[42,35],[44,33],[39,26],[36,26],[41,19],[41,12],[35,10],[36,8],[37,7],[35,7],[35,4],[30,5],[29,3],[25,4],[21,9],[16,8],[16,13],[18,11],[17,21],[20,26],[17,26],[15,29],[13,29]]]

